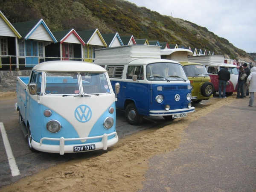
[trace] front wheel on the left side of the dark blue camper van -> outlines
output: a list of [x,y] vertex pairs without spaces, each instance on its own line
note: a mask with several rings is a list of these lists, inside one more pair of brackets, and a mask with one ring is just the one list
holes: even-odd
[[125,108],[125,118],[131,125],[139,125],[143,121],[143,115],[139,114],[134,103],[130,103]]

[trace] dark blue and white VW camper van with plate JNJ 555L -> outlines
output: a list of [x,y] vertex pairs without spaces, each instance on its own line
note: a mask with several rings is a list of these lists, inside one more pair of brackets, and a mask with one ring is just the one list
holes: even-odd
[[173,120],[195,111],[182,65],[161,59],[159,46],[96,49],[95,64],[108,71],[112,85],[120,84],[116,108],[125,110],[131,125],[140,124],[143,116]]

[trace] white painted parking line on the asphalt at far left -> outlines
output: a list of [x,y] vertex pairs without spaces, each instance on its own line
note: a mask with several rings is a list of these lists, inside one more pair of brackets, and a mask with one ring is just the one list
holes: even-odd
[[2,122],[0,122],[0,129],[1,129],[1,134],[2,134],[2,137],[3,137],[3,144],[4,144],[5,149],[6,149],[6,154],[7,154],[7,157],[8,157],[9,165],[10,165],[10,168],[11,168],[11,171],[12,171],[12,176],[20,175],[20,171],[17,167],[15,158],[13,157],[12,148],[11,148],[11,145],[9,143],[9,140],[8,140],[8,137],[7,137],[7,134],[6,134],[6,131],[5,131],[5,128],[4,128]]

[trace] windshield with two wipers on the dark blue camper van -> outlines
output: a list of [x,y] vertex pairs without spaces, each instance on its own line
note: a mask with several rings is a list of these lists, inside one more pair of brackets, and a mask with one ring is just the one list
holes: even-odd
[[187,80],[183,67],[176,63],[153,63],[146,67],[149,81],[181,81]]

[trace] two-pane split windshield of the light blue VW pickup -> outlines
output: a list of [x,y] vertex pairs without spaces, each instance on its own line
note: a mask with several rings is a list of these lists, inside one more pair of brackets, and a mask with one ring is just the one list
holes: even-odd
[[[79,80],[81,79],[81,81]],[[82,82],[82,88],[79,86]],[[105,73],[46,73],[45,94],[110,93]]]

